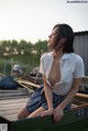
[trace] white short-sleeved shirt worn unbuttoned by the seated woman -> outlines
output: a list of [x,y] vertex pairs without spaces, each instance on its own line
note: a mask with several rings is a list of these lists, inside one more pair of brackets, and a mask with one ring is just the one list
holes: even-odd
[[[46,76],[46,81],[51,87],[52,85],[48,81],[48,75],[52,68],[53,61],[53,52],[45,53],[41,57],[40,72]],[[64,54],[59,62],[62,79],[61,81],[56,83],[52,88],[55,94],[64,96],[72,88],[74,78],[84,77],[85,69],[82,58],[75,53]]]

